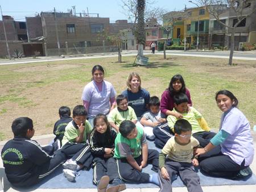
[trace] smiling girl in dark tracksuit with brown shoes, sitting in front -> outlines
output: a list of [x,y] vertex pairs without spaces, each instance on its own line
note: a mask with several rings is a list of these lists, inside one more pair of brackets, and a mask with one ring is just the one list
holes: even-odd
[[[93,183],[97,185],[98,191],[123,191],[126,186],[119,178],[117,162],[113,158],[117,132],[114,128],[110,128],[106,115],[98,114],[93,124],[94,128],[89,138],[94,157]],[[103,176],[108,176],[108,182],[103,182],[106,180]],[[103,185],[104,183],[106,184]]]

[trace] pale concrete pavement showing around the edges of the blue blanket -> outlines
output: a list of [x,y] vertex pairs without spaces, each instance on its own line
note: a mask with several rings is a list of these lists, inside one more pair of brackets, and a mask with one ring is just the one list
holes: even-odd
[[[256,149],[256,132],[251,132],[254,138],[254,149]],[[54,135],[42,135],[33,137],[34,140],[37,140],[41,145],[47,145],[52,139]],[[0,150],[2,150],[3,145],[6,141],[0,142]],[[254,158],[253,164],[251,164],[250,168],[253,170],[253,173],[256,174],[256,158]],[[3,162],[0,161],[0,180],[3,186],[0,185],[0,192],[2,191],[17,191],[14,190],[9,181],[5,176],[5,171],[3,169]],[[68,182],[68,181],[67,181]],[[1,189],[2,187],[2,189]],[[1,191],[2,190],[2,191]],[[228,186],[205,186],[203,187],[205,192],[255,192],[256,185],[228,185]],[[31,191],[31,190],[30,190]],[[69,191],[83,191],[83,192],[96,192],[96,189],[34,189],[32,191],[52,191],[52,192],[69,192]],[[159,191],[159,188],[144,188],[144,189],[126,189],[125,192],[156,192]],[[174,187],[173,192],[187,192],[187,187]]]

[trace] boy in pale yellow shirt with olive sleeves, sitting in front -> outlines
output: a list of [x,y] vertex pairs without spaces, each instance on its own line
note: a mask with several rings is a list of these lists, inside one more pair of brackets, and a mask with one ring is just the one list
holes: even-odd
[[172,180],[179,174],[188,191],[203,192],[199,176],[193,168],[199,165],[193,158],[193,148],[199,145],[199,141],[191,136],[191,130],[191,124],[185,119],[179,119],[174,124],[175,136],[167,141],[159,154],[159,191],[172,191]]

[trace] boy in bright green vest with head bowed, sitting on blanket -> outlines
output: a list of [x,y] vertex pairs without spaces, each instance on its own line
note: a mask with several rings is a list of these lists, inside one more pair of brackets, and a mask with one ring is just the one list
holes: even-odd
[[146,136],[141,127],[130,120],[124,120],[115,138],[114,158],[118,159],[119,174],[125,181],[136,183],[152,182],[159,185],[158,174],[143,173],[142,168],[152,164],[158,171],[158,151],[148,149]]

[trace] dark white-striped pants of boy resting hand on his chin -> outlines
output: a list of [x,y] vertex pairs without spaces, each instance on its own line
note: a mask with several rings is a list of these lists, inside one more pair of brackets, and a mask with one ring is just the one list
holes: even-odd
[[66,143],[61,148],[68,158],[72,158],[77,164],[83,165],[84,169],[91,168],[93,156],[90,153],[90,145],[88,143]]

